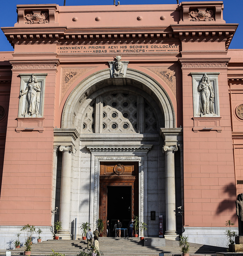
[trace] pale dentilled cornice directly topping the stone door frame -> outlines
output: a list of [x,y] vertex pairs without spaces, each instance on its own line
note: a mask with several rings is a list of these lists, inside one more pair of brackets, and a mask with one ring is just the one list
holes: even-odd
[[86,145],[90,152],[148,152],[153,145]]

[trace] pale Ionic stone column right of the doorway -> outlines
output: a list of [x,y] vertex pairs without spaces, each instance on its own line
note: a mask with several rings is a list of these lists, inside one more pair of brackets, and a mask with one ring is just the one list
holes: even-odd
[[164,145],[165,153],[165,210],[166,210],[166,231],[164,237],[173,239],[178,236],[176,232],[176,211],[175,211],[175,163],[174,152],[176,145]]

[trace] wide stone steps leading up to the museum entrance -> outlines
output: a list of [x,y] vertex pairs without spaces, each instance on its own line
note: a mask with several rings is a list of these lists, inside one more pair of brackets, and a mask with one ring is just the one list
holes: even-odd
[[[159,256],[163,252],[167,255],[181,255],[180,247],[148,247],[144,246],[140,238],[99,238],[100,251],[104,256]],[[87,241],[83,240],[48,240],[32,245],[31,256],[46,256],[54,252],[59,252],[67,256],[74,256],[80,251],[87,252]],[[23,255],[24,247],[10,250],[11,255]],[[201,249],[199,247],[190,247],[190,255],[216,256],[215,252]],[[0,255],[5,255],[1,250]]]

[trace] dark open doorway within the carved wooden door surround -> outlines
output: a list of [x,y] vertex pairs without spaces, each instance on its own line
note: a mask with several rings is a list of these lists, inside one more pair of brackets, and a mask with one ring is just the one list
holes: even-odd
[[[107,186],[107,220],[110,222],[110,234],[115,237],[113,228],[115,222],[119,219],[122,227],[127,228],[131,220],[131,190],[132,186]],[[123,230],[121,230],[123,236]]]

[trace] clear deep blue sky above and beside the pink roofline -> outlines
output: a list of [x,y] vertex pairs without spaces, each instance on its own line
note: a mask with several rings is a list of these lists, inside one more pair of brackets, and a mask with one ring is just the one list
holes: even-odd
[[[118,0],[116,0],[117,3]],[[114,0],[66,0],[66,5],[113,5]],[[180,3],[181,1],[179,1]],[[243,13],[242,1],[240,0],[225,0],[223,17],[226,23],[238,23],[235,36],[231,41],[229,49],[243,49]],[[49,1],[31,1],[31,0],[2,0],[1,1],[1,27],[13,27],[17,22],[16,5],[17,4],[59,4],[63,5],[64,0],[49,0]],[[176,0],[120,0],[120,4],[176,4]],[[7,41],[3,31],[0,31],[0,51],[13,51],[13,47]]]

